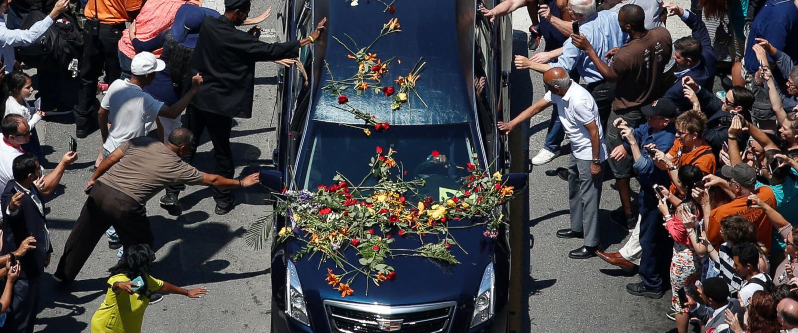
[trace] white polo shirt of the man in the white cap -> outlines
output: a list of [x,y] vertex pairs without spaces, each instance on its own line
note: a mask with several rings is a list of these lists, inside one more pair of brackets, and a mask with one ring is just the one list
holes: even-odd
[[114,151],[129,139],[146,135],[164,102],[156,100],[128,79],[119,79],[109,86],[100,106],[109,110],[108,122],[111,123],[103,148]]

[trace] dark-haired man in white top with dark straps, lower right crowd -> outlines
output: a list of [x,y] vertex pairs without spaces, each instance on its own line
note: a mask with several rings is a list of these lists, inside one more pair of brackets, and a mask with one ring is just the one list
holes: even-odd
[[740,299],[740,304],[743,307],[747,307],[754,292],[760,290],[770,292],[773,282],[767,274],[759,271],[757,245],[743,243],[735,246],[732,253],[734,256],[734,270],[737,271],[737,276],[745,279],[740,292],[737,292],[737,298]]

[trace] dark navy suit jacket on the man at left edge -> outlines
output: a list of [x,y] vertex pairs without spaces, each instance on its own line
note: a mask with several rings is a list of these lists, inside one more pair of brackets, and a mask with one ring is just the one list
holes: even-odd
[[[42,201],[42,210],[40,211],[36,203],[34,203],[34,200],[30,198],[30,195],[26,194],[22,197],[22,206],[19,207],[18,213],[14,216],[7,214],[11,198],[18,192],[15,187],[16,184],[17,182],[14,182],[14,179],[10,180],[8,184],[6,184],[6,189],[2,192],[2,197],[0,197],[0,207],[2,207],[3,218],[3,242],[0,255],[6,255],[16,251],[19,245],[22,244],[22,241],[27,237],[33,236],[36,238],[36,243],[34,244],[36,249],[28,251],[25,257],[18,258],[22,266],[22,272],[20,272],[19,278],[35,279],[41,276],[41,273],[45,270],[45,257],[47,257],[47,253],[53,252],[53,246],[49,244],[49,235],[46,229],[47,218],[41,213],[42,211],[46,211],[46,207],[44,201]],[[36,186],[33,186],[32,191],[38,195],[40,200],[43,199],[41,198],[41,194],[38,193],[39,190]]]

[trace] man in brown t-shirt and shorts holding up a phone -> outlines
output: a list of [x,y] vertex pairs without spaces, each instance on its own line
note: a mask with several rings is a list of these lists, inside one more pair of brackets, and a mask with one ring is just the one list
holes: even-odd
[[[673,44],[667,29],[662,27],[646,29],[646,13],[640,6],[624,6],[618,14],[618,24],[624,33],[629,34],[629,41],[619,49],[611,49],[605,55],[611,59],[611,65],[606,65],[602,61],[584,36],[571,35],[571,42],[587,53],[587,57],[591,58],[596,69],[606,80],[618,82],[615,100],[612,103],[613,110],[607,123],[614,124],[615,119],[621,118],[630,127],[636,128],[646,122],[646,118],[640,112],[642,105],[650,104],[662,96],[667,87],[662,84],[662,72],[670,60]],[[618,127],[607,126],[607,149],[612,150],[621,144],[623,139]],[[626,214],[626,221],[622,221],[623,217],[619,216],[619,212],[613,214],[613,220],[620,225],[634,225],[638,217],[632,212],[629,186],[634,161],[631,156],[620,160],[608,159],[608,161],[617,179],[623,213]]]

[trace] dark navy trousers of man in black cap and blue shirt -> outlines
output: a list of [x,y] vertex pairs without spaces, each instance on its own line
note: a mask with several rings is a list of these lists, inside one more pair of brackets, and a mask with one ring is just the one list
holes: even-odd
[[662,276],[670,276],[674,241],[662,227],[662,213],[657,208],[658,199],[650,186],[645,186],[640,192],[640,202],[640,277],[646,287],[663,289]]

